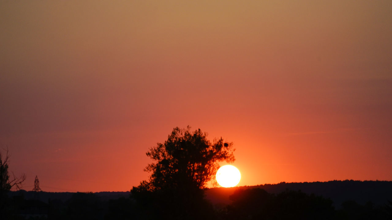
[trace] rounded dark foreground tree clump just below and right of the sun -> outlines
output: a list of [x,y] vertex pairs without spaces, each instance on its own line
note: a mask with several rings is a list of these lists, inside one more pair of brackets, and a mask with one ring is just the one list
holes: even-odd
[[283,191],[277,195],[264,189],[237,190],[231,195],[227,215],[222,219],[333,219],[332,200],[301,191]]

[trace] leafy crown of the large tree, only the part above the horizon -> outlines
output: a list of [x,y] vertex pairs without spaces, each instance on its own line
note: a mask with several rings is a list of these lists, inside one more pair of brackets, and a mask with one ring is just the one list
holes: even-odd
[[174,128],[167,141],[158,143],[146,153],[152,160],[145,171],[151,172],[149,182],[142,186],[149,190],[170,188],[205,188],[219,168],[218,162],[234,162],[232,142],[222,138],[207,139],[200,129]]

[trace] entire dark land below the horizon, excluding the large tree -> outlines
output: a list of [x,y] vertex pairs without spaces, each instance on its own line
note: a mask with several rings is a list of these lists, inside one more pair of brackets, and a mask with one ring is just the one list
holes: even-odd
[[[163,193],[163,194],[162,194]],[[211,188],[183,213],[164,192],[49,193],[10,191],[5,219],[392,219],[392,181],[328,181]],[[198,202],[197,202],[198,201]],[[5,202],[5,203],[4,203]],[[168,211],[169,210],[169,211]],[[174,216],[174,217],[173,217]]]

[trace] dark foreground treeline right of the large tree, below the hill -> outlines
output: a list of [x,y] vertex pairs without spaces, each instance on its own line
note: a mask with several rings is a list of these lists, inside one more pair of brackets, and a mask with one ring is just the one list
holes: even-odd
[[332,200],[301,191],[286,190],[278,194],[261,188],[235,191],[232,203],[223,209],[222,219],[391,219],[392,202],[375,206],[368,202],[362,206],[353,200],[345,201],[340,209]]

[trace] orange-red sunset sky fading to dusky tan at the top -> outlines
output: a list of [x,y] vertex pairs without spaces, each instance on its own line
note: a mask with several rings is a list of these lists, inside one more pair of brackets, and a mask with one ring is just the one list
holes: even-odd
[[[239,186],[392,180],[390,0],[0,0],[0,147],[44,191],[129,191],[176,126]],[[4,152],[4,150],[3,150]],[[224,164],[221,164],[224,165]]]

